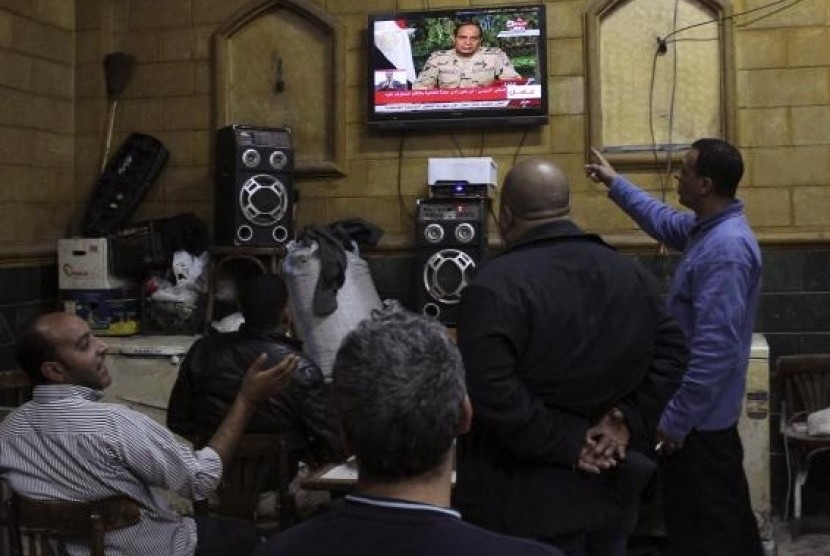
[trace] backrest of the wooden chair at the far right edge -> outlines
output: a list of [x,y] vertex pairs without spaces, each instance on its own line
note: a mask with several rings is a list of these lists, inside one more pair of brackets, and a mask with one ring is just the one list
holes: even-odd
[[830,407],[830,353],[782,355],[776,374],[783,382],[790,419]]

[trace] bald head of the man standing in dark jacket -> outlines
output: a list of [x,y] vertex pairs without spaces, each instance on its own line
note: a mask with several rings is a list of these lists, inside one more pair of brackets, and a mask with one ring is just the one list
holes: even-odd
[[562,170],[548,160],[523,160],[504,178],[501,203],[518,220],[567,216],[570,211],[568,180]]

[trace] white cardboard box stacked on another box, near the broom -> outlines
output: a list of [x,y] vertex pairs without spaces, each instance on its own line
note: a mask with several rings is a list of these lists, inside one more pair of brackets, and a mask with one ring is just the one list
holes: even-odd
[[58,240],[58,288],[61,290],[111,290],[133,285],[109,272],[107,238]]

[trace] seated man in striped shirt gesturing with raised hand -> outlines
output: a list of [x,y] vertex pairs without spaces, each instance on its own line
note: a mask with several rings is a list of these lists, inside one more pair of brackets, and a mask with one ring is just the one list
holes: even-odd
[[[253,357],[216,434],[194,452],[146,415],[98,402],[112,381],[106,350],[83,319],[68,313],[37,317],[21,332],[19,363],[35,386],[32,401],[0,423],[0,477],[28,498],[125,495],[138,502],[141,521],[108,533],[107,554],[250,554],[259,544],[252,525],[182,517],[158,489],[194,500],[213,491],[255,406],[285,382],[297,359],[265,368],[263,355]],[[68,540],[66,547],[89,553],[82,542]]]

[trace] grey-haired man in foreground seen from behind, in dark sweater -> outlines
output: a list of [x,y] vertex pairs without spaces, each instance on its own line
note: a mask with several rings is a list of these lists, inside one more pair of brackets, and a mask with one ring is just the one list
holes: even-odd
[[472,409],[461,358],[440,324],[403,311],[364,320],[340,345],[333,388],[357,491],[258,554],[561,554],[467,524],[449,507],[453,445]]

